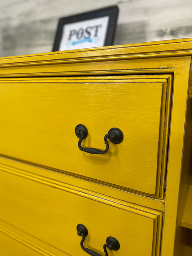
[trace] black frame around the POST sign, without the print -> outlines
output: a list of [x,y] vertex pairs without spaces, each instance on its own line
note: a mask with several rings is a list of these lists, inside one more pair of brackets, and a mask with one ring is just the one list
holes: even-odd
[[[66,49],[61,49],[60,43],[61,43],[61,38],[63,36],[64,26],[66,26],[67,24],[77,23],[77,22],[81,22],[84,20],[91,21],[93,19],[96,19],[99,17],[106,17],[106,16],[108,16],[109,18],[108,18],[107,30],[105,28],[105,31],[106,31],[105,43],[104,43],[104,45],[99,45],[99,46],[113,45],[113,39],[114,39],[114,35],[115,35],[118,12],[119,12],[118,6],[110,6],[107,8],[98,9],[98,10],[91,11],[91,12],[85,12],[85,13],[81,13],[78,15],[60,18],[59,22],[58,22],[58,27],[57,27],[55,41],[53,44],[52,51],[55,52],[55,51],[59,51],[59,50],[66,50]],[[96,29],[98,29],[98,27]],[[74,31],[75,31],[75,29],[73,30],[73,33],[75,33]],[[92,29],[92,31],[93,31],[93,29]],[[95,47],[95,46],[91,46],[91,44],[90,44],[90,47]],[[90,47],[88,47],[88,48],[90,48]],[[83,47],[83,48],[87,48],[87,47]],[[81,49],[81,47],[78,46],[76,49]]]

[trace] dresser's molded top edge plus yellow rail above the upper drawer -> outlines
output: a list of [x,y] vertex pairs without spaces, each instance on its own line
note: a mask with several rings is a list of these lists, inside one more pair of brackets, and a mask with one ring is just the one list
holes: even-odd
[[[82,76],[87,74],[109,73],[143,73],[147,69],[147,58],[163,58],[160,72],[174,71],[165,63],[165,57],[192,55],[192,39],[178,39],[148,42],[142,44],[128,44],[73,51],[49,52],[34,55],[13,56],[0,58],[0,76]],[[138,69],[138,59],[145,61],[145,66]],[[126,61],[125,61],[126,60]],[[127,68],[132,62],[131,70]],[[121,62],[120,62],[121,61]],[[102,63],[101,63],[102,62]],[[148,62],[150,64],[150,62]],[[144,73],[158,72],[152,69]]]

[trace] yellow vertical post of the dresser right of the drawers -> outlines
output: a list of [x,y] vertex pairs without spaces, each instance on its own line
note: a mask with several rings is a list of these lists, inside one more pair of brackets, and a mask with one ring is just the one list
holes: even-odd
[[[181,178],[180,171],[183,157],[183,140],[189,90],[190,65],[191,58],[189,57],[188,61],[183,63],[183,67],[175,69],[174,73],[174,92],[169,137],[169,161],[167,166],[165,216],[163,225],[164,236],[162,238],[161,249],[162,255],[174,255],[175,251],[174,246],[178,225],[177,207]],[[178,123],[180,123],[179,126]],[[167,242],[167,240],[169,240],[169,242]]]

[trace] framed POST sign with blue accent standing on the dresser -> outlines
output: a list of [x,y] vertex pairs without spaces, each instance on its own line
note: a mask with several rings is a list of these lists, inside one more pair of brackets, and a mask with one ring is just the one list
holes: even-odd
[[52,51],[112,45],[118,12],[111,6],[59,19]]

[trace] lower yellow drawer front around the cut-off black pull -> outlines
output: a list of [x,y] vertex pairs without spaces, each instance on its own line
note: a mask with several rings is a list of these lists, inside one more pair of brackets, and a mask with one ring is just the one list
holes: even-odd
[[120,244],[117,251],[107,249],[109,256],[159,255],[161,212],[11,167],[0,169],[0,180],[0,219],[63,253],[88,255],[76,230],[83,224],[88,230],[84,246],[101,255],[108,236]]

